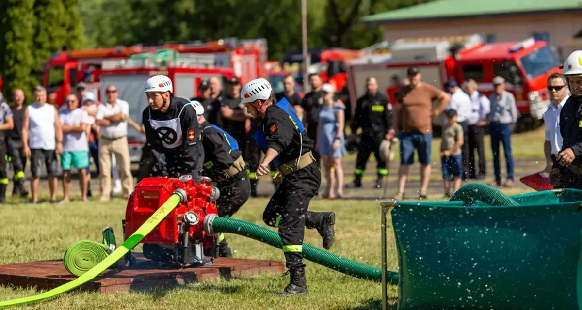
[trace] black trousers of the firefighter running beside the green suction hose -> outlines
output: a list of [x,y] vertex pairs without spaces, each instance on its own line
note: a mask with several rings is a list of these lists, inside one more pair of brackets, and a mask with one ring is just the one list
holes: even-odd
[[320,165],[317,162],[283,177],[283,181],[262,213],[271,227],[279,228],[286,267],[303,265],[303,235],[307,208],[321,185]]

